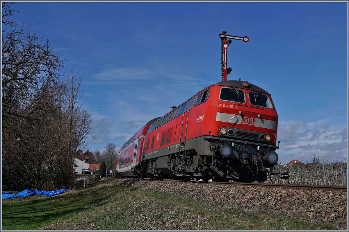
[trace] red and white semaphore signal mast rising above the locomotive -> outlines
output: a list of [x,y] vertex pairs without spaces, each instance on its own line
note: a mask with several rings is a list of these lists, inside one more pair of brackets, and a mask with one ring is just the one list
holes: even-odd
[[[239,36],[228,36],[226,31],[223,31],[222,34],[219,34],[219,37],[222,39],[222,49],[221,49],[221,64],[222,64],[222,73],[221,73],[221,81],[227,80],[227,75],[230,74],[231,68],[227,68],[227,51],[228,47],[231,44],[231,39],[242,40],[244,42],[248,42],[248,37],[239,37]],[[229,39],[227,41],[227,38]]]

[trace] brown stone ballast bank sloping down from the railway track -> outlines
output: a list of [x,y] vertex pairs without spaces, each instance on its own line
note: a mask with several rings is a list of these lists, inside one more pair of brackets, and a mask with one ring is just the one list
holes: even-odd
[[254,186],[202,184],[112,178],[117,185],[156,190],[220,207],[240,207],[245,212],[272,211],[276,215],[311,222],[333,223],[347,229],[347,192],[296,190]]

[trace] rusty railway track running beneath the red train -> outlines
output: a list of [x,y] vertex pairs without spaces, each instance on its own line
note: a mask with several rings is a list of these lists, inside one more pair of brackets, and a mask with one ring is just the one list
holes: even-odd
[[[126,179],[126,178],[125,178]],[[139,179],[133,179],[128,178],[132,180],[139,180]],[[182,180],[151,180],[151,179],[144,179],[149,181],[179,181],[182,182]],[[267,183],[237,183],[237,182],[215,182],[215,181],[209,181],[209,182],[203,182],[203,181],[188,181],[190,183],[201,183],[201,184],[214,184],[214,185],[236,185],[236,186],[254,186],[254,187],[267,187],[267,188],[288,188],[288,189],[303,189],[303,190],[324,190],[324,191],[343,191],[347,192],[347,186],[337,186],[337,185],[290,185],[290,184],[267,184]]]

